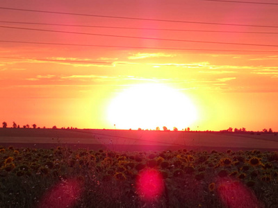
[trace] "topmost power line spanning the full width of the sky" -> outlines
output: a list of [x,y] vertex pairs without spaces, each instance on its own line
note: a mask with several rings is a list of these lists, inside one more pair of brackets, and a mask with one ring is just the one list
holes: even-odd
[[260,28],[278,28],[278,26],[265,26],[265,25],[252,25],[252,24],[225,24],[216,22],[206,22],[206,21],[181,21],[181,20],[171,20],[171,19],[150,19],[150,18],[139,18],[139,17],[120,17],[120,16],[109,16],[109,15],[89,15],[81,13],[70,13],[70,12],[54,12],[46,10],[28,10],[19,8],[6,8],[0,7],[2,10],[17,10],[24,12],[43,12],[58,15],[78,15],[84,17],[104,17],[104,18],[114,18],[114,19],[132,19],[132,20],[144,20],[144,21],[164,21],[164,22],[176,22],[176,23],[186,23],[186,24],[211,24],[211,25],[226,25],[226,26],[248,26],[248,27],[260,27]]

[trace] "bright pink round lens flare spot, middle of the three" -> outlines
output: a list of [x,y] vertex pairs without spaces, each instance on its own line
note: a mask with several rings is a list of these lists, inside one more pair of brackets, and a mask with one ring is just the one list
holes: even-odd
[[154,169],[147,169],[139,173],[136,189],[142,200],[152,201],[159,198],[164,191],[161,173]]

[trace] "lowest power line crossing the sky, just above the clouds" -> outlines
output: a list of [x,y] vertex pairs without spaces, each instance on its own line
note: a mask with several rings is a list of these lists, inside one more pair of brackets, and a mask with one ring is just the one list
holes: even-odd
[[158,50],[174,50],[174,51],[222,51],[222,52],[254,52],[254,53],[278,53],[278,51],[254,51],[254,50],[225,50],[225,49],[184,49],[184,48],[163,48],[163,47],[140,47],[140,46],[111,46],[111,45],[95,45],[95,44],[64,44],[52,42],[24,42],[24,41],[11,41],[0,40],[6,43],[19,43],[19,44],[47,44],[47,45],[60,45],[60,46],[89,46],[89,47],[106,47],[106,48],[122,48],[122,49],[158,49]]

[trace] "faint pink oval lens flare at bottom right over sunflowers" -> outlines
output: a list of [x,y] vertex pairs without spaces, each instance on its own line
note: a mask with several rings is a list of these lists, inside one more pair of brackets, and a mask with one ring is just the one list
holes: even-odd
[[239,181],[220,181],[218,194],[226,207],[259,207],[259,202],[254,193]]

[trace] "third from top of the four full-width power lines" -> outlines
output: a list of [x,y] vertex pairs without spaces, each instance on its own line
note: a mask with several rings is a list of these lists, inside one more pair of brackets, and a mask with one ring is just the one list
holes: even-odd
[[44,32],[54,32],[54,33],[70,33],[70,34],[78,34],[78,35],[96,35],[96,36],[104,36],[104,37],[123,37],[123,38],[146,39],[146,40],[163,40],[163,41],[174,41],[174,42],[195,42],[195,43],[205,43],[205,44],[231,44],[231,45],[243,45],[243,46],[278,47],[278,45],[271,45],[271,44],[247,44],[247,43],[234,43],[234,42],[212,42],[212,41],[202,41],[202,40],[167,39],[167,38],[158,38],[158,37],[136,37],[136,36],[126,36],[126,35],[108,35],[108,34],[99,34],[99,33],[79,33],[79,32],[54,31],[54,30],[35,29],[35,28],[19,28],[19,27],[10,27],[10,26],[0,26],[0,28],[21,29],[21,30],[28,30],[28,31],[44,31]]

